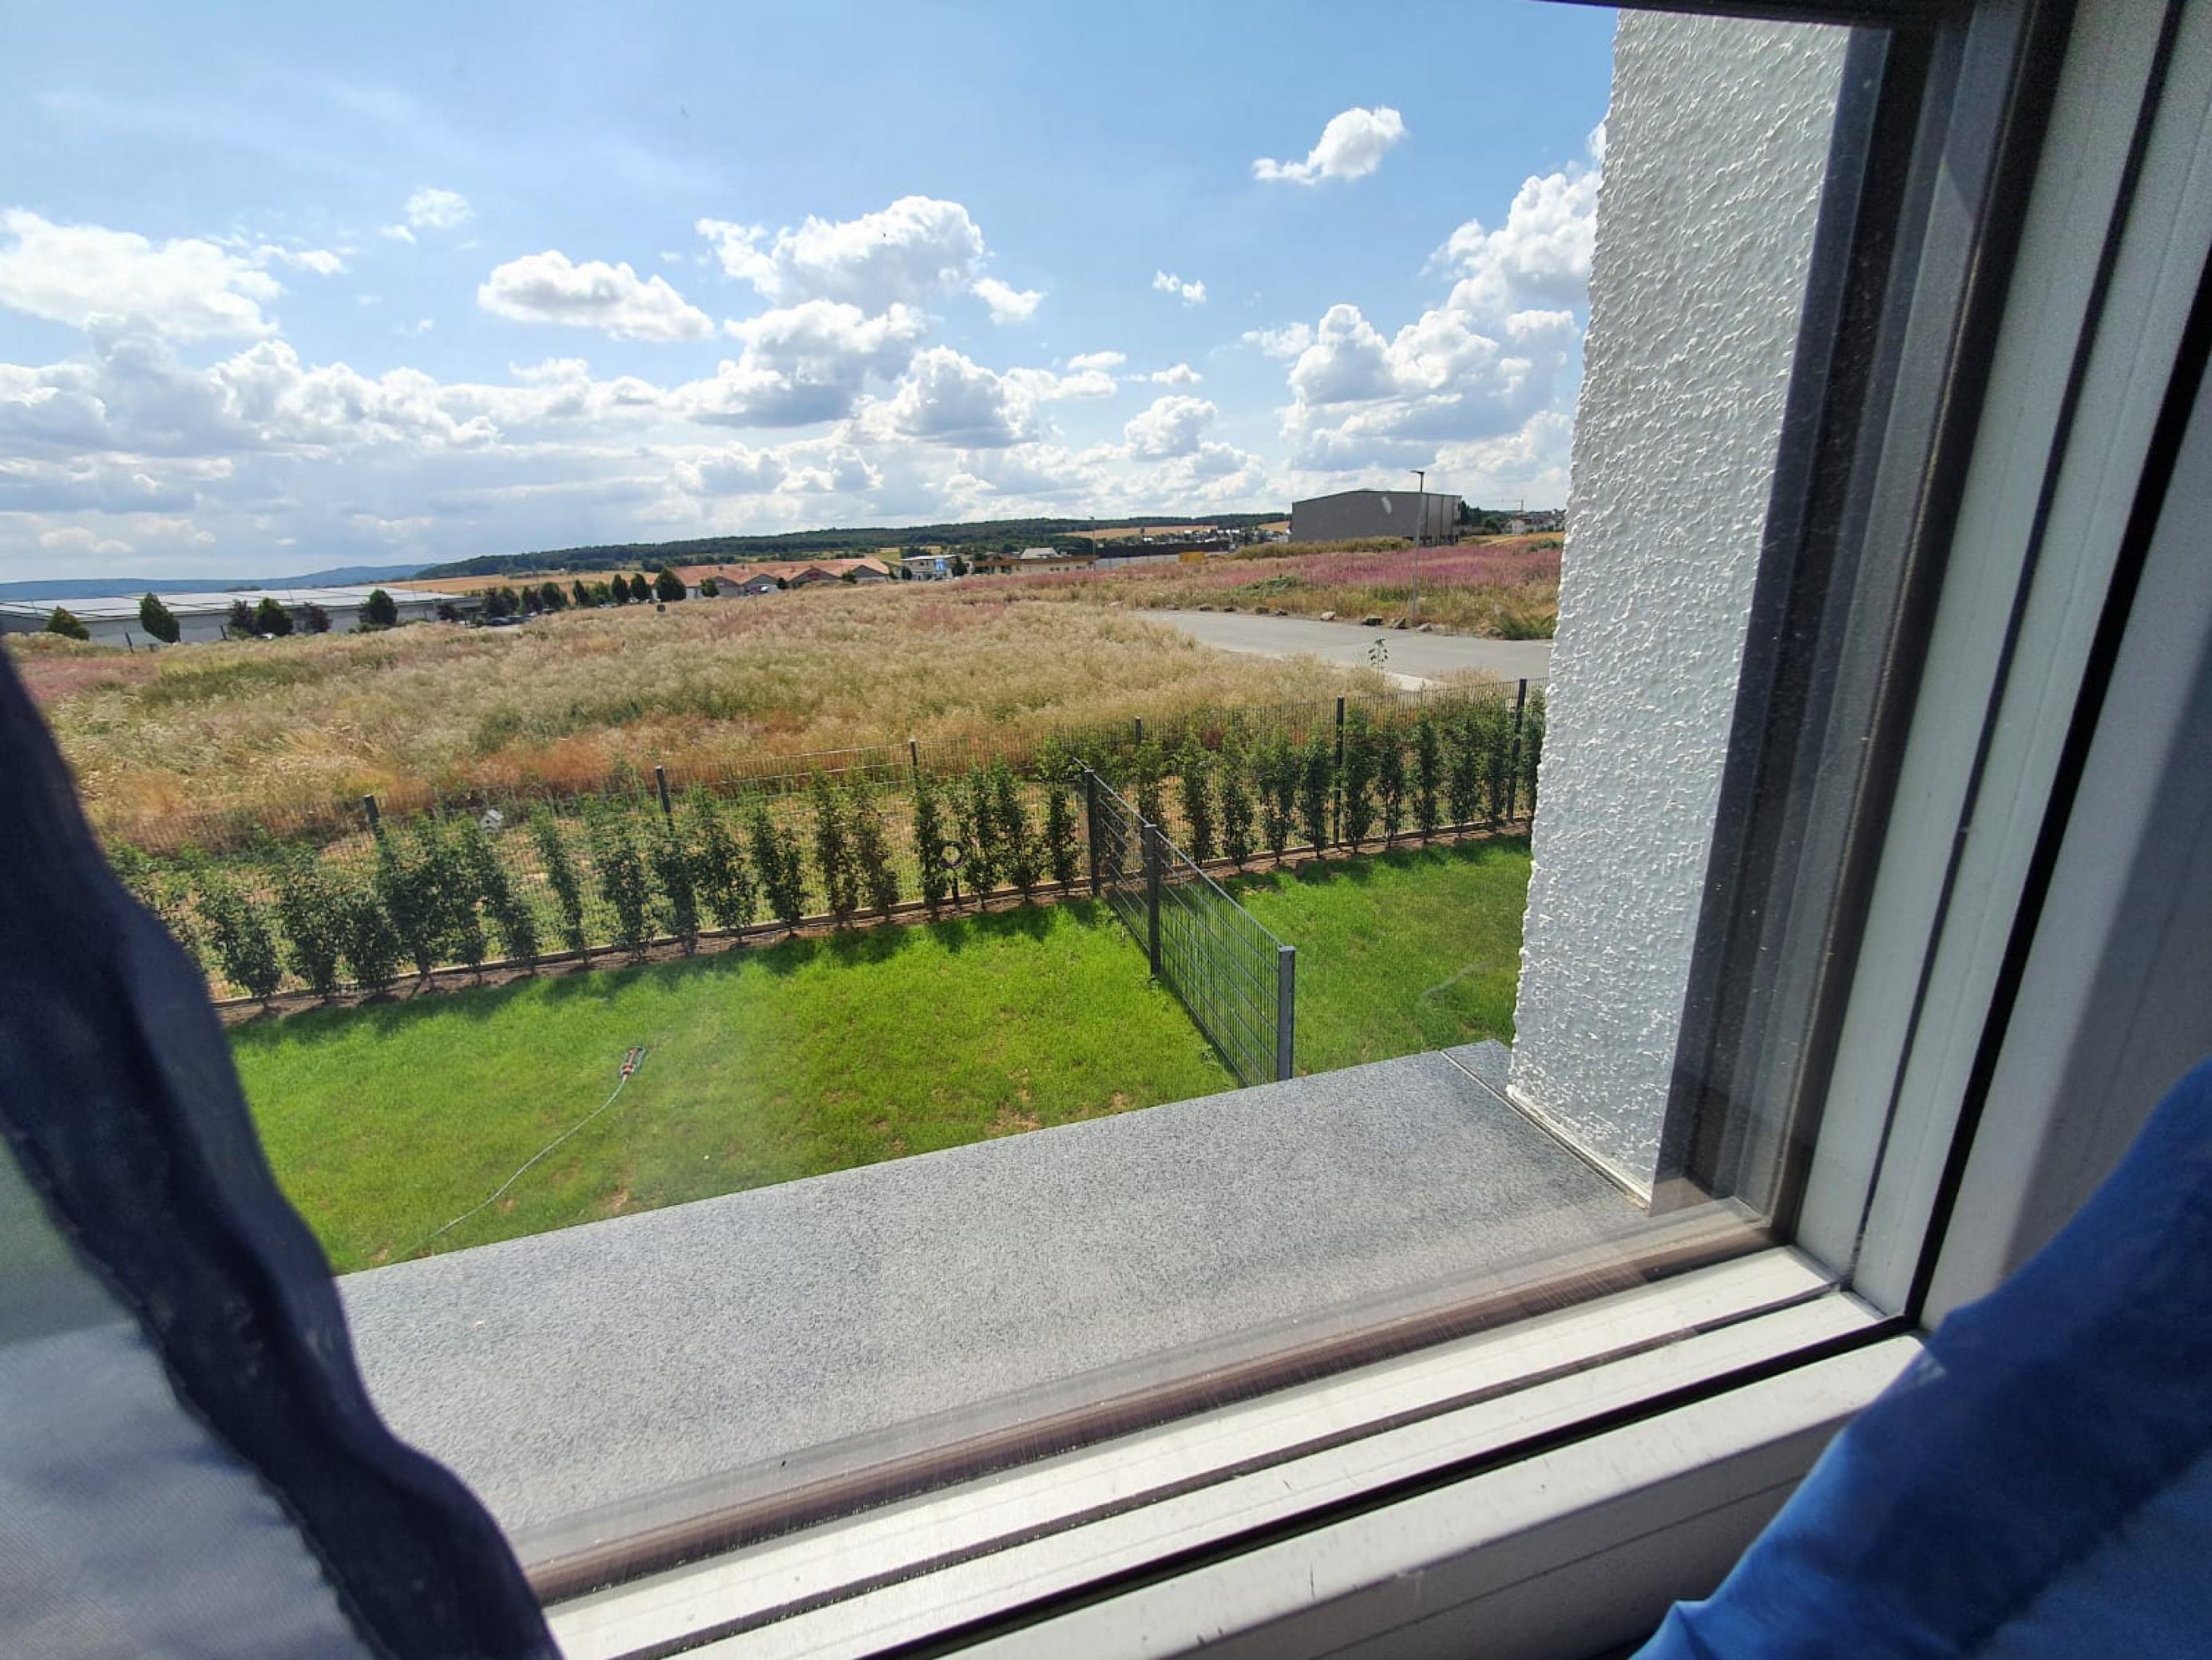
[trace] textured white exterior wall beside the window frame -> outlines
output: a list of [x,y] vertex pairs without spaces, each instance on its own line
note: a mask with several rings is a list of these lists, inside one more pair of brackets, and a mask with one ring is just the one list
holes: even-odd
[[1513,1096],[1648,1191],[1845,31],[1624,13]]

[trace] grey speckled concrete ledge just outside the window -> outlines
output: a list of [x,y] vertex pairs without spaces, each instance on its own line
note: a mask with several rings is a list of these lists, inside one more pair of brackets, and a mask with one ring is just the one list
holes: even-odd
[[[1498,1043],[1203,1096],[341,1282],[398,1435],[518,1541],[1639,1220]],[[1020,1406],[1000,1406],[1009,1397]],[[538,1541],[540,1549],[533,1549]]]

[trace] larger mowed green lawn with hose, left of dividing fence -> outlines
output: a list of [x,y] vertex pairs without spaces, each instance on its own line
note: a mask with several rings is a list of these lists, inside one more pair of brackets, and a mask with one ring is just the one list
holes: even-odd
[[1183,1101],[1232,1079],[1091,902],[252,1021],[276,1178],[343,1273]]

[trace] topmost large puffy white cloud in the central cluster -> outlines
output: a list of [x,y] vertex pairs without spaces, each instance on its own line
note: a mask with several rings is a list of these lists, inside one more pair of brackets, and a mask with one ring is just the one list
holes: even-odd
[[969,287],[984,256],[982,230],[958,201],[900,197],[858,219],[807,217],[774,237],[763,225],[701,219],[721,267],[776,305],[825,298],[883,312]]

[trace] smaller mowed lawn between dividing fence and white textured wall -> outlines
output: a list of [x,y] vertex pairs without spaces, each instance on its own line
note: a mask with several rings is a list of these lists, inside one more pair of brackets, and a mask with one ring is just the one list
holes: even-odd
[[1245,875],[1230,891],[1298,948],[1298,1070],[1513,1041],[1528,838]]

